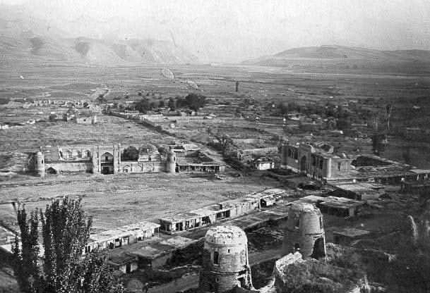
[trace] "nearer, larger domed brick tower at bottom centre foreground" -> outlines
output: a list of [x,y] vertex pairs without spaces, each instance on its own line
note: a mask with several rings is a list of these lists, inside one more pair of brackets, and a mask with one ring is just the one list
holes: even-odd
[[229,292],[252,288],[248,263],[248,239],[239,227],[213,227],[205,236],[198,292]]

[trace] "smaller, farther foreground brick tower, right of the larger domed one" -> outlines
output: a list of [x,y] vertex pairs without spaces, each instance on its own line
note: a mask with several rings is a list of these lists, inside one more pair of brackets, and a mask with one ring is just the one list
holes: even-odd
[[323,215],[312,204],[292,204],[284,230],[282,253],[299,251],[304,258],[326,256]]

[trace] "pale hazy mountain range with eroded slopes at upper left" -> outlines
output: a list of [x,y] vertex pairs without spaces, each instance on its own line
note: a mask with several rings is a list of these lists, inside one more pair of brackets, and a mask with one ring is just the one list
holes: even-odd
[[[17,9],[0,4],[0,52],[3,58],[54,60],[97,65],[198,63],[174,42],[157,39],[70,37]],[[6,13],[7,11],[7,13]]]

